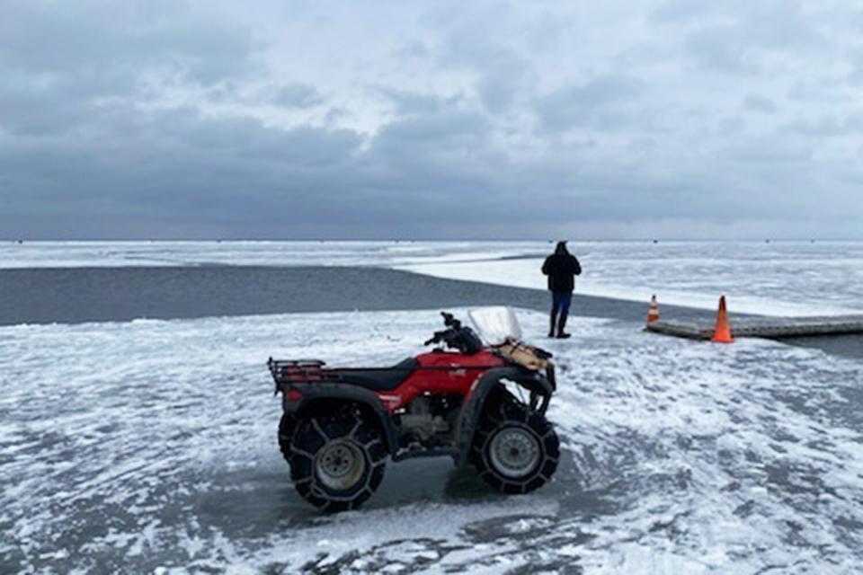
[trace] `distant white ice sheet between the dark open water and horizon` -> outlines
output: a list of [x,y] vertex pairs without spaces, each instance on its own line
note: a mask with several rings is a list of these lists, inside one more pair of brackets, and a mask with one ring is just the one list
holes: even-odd
[[[451,279],[546,287],[546,242],[0,243],[0,268],[372,265]],[[863,242],[574,242],[577,291],[776,315],[861,313]]]

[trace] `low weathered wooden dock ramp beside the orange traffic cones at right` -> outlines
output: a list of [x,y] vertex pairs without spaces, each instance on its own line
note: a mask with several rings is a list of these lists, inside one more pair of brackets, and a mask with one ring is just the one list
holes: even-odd
[[[663,333],[690,340],[709,340],[713,337],[714,323],[706,321],[658,320],[648,323],[648,332]],[[863,334],[863,315],[817,315],[813,317],[743,316],[731,318],[731,332],[735,338],[812,337],[819,335]]]

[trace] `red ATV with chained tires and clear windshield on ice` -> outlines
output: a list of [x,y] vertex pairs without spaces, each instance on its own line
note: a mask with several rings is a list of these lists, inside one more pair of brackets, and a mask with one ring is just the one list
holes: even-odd
[[469,461],[504,493],[527,493],[551,479],[560,455],[545,417],[555,390],[551,354],[520,343],[507,308],[470,313],[486,341],[497,339],[490,346],[442,315],[446,329],[425,342],[441,345],[393,367],[326,369],[319,360],[270,359],[284,410],[281,453],[312,505],[360,506],[383,479],[387,456]]

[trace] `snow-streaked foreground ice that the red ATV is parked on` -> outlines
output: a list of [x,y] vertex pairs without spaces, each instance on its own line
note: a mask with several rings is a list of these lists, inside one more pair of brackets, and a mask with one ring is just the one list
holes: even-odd
[[0,328],[0,572],[859,568],[863,363],[519,319],[556,354],[555,482],[506,498],[446,459],[391,464],[334,517],[289,486],[264,361],[394,363],[437,313]]

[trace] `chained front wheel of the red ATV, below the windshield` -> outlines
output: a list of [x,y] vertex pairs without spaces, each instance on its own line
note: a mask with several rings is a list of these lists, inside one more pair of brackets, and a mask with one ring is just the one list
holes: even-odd
[[471,460],[485,482],[503,493],[529,493],[557,469],[560,441],[546,418],[512,396],[494,398],[476,428]]

